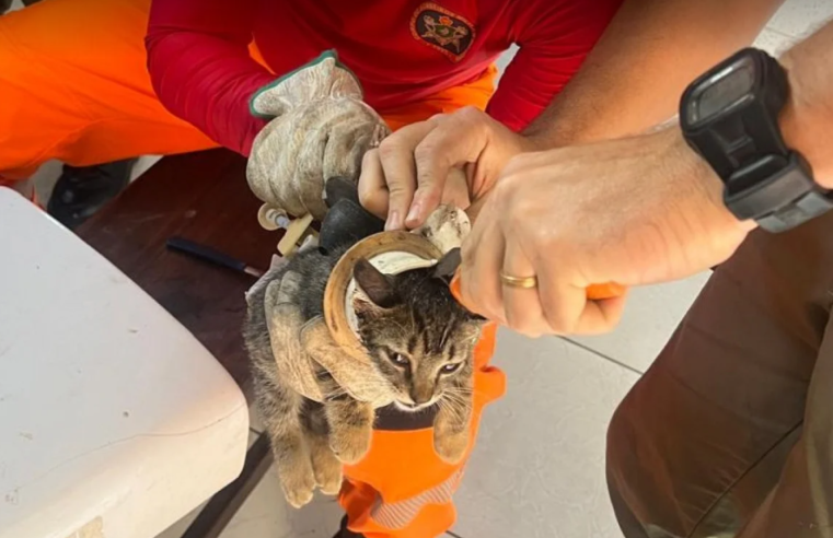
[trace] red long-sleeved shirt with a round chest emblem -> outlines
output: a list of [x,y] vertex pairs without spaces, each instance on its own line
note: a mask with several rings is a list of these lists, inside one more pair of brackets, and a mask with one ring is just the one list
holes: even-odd
[[[413,103],[476,79],[512,43],[487,112],[525,127],[576,73],[622,0],[154,0],[148,65],[162,103],[248,154],[263,120],[248,100],[336,49],[367,103]],[[254,38],[269,70],[254,61]]]

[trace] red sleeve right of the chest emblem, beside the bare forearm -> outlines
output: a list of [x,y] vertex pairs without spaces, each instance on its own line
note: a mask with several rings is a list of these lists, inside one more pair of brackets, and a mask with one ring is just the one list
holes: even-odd
[[608,27],[622,0],[521,2],[514,37],[520,49],[487,112],[519,131],[569,82]]

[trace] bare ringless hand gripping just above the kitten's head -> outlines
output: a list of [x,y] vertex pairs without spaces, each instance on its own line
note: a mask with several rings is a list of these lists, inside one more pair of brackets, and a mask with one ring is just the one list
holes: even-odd
[[414,229],[440,203],[465,209],[493,187],[512,156],[530,149],[523,137],[474,107],[438,115],[365,154],[359,198],[386,219],[386,230]]

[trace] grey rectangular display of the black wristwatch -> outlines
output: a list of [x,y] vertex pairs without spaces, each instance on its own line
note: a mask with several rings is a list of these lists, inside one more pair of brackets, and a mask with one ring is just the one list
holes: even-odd
[[740,58],[736,63],[703,81],[695,90],[686,109],[689,125],[708,121],[752,93],[755,84],[755,66],[752,58]]

